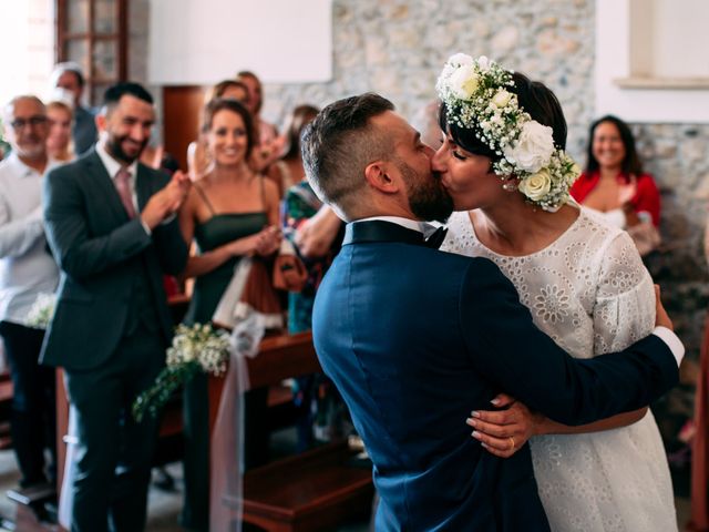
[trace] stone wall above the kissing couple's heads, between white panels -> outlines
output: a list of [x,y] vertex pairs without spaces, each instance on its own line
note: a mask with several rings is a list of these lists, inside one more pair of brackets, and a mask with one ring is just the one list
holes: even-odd
[[434,98],[445,59],[462,51],[544,80],[566,111],[569,150],[580,153],[592,119],[593,0],[335,0],[332,33],[332,81],[268,85],[267,119],[364,91],[414,119]]

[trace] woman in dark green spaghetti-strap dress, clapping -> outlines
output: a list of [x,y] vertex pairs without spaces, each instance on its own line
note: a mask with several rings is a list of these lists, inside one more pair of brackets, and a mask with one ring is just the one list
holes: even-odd
[[[195,287],[185,320],[208,323],[242,257],[268,256],[280,245],[278,191],[255,173],[247,161],[255,144],[251,115],[236,100],[216,99],[207,104],[203,135],[210,170],[194,187],[179,213],[184,239],[197,244],[185,277]],[[208,528],[209,432],[207,379],[196,376],[184,393],[185,507],[183,525]],[[268,453],[264,423],[266,390],[245,396],[245,467],[261,463]]]

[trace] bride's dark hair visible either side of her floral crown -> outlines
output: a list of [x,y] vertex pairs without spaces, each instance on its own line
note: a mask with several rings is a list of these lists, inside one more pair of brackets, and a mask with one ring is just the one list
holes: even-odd
[[[556,147],[566,150],[566,119],[564,117],[564,111],[556,95],[544,83],[532,81],[520,72],[514,72],[512,79],[514,80],[514,86],[506,89],[517,95],[520,108],[530,113],[532,120],[552,127],[552,130],[554,130],[554,144]],[[476,129],[463,127],[456,123],[450,123],[448,121],[445,105],[443,104],[440,106],[439,125],[441,126],[441,131],[450,132],[455,144],[463,150],[476,155],[490,157],[493,163],[502,158],[501,155],[495,154],[487,144],[477,137]]]

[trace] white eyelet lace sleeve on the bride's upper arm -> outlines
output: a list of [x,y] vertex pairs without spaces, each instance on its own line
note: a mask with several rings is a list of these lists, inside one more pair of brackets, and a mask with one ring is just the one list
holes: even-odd
[[594,352],[625,349],[655,327],[655,290],[650,274],[627,233],[603,249],[594,305]]

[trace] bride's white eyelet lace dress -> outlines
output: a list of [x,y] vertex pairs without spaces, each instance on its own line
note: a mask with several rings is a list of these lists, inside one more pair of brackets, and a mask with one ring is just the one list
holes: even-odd
[[[497,264],[537,327],[574,357],[621,350],[653,330],[653,280],[633,241],[584,209],[556,242],[523,257],[483,246],[467,213],[454,213],[448,225],[441,249]],[[530,444],[553,531],[677,531],[667,458],[651,412],[629,427],[535,437]]]

